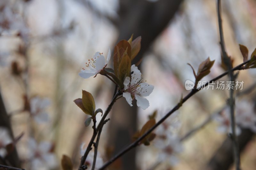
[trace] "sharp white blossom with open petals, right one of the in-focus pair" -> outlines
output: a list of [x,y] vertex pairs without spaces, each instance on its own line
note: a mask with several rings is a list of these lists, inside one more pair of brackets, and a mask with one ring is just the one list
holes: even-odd
[[132,106],[132,100],[135,98],[137,100],[137,106],[145,110],[148,108],[149,102],[141,96],[149,96],[152,93],[154,86],[149,85],[148,83],[142,83],[143,78],[141,77],[140,70],[135,65],[132,65],[131,73],[131,78],[126,77],[124,80],[123,97],[125,97],[130,106]]

